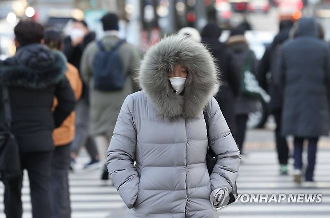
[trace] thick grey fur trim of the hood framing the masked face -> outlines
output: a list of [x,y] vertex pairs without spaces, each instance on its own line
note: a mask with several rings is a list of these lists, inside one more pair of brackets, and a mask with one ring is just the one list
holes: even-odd
[[[188,69],[185,88],[180,95],[175,93],[168,78],[168,72],[177,63]],[[149,48],[137,80],[157,113],[170,120],[195,118],[219,89],[218,70],[206,47],[178,35],[163,38]]]

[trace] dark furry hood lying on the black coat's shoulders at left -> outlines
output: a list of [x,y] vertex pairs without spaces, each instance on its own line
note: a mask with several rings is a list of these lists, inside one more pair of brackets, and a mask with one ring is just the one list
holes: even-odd
[[5,85],[43,89],[65,75],[66,58],[42,44],[19,47],[16,54],[0,62],[0,82]]

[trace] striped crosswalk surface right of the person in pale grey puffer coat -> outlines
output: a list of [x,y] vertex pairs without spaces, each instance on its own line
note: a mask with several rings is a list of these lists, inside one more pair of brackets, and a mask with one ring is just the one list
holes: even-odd
[[[284,217],[330,217],[330,150],[322,149],[317,154],[314,179],[316,187],[292,182],[292,164],[289,161],[289,175],[279,175],[277,155],[273,150],[248,151],[242,157],[237,187],[239,194],[322,194],[321,203],[243,203],[238,201],[218,210],[219,217],[284,218]],[[305,161],[307,163],[307,161]],[[245,198],[247,199],[247,198]],[[268,198],[269,199],[269,198]],[[244,200],[243,200],[244,201]]]

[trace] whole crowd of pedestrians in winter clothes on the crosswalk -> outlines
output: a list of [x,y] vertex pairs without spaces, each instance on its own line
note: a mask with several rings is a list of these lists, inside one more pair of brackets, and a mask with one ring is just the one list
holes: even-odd
[[[0,62],[0,114],[8,92],[21,166],[19,176],[2,179],[8,218],[22,217],[24,169],[33,217],[70,218],[68,174],[82,147],[90,156],[85,168],[112,179],[130,209],[126,217],[218,217],[214,207],[224,205],[217,196],[235,191],[261,88],[271,97],[279,173],[288,174],[286,137],[293,136],[293,181],[314,182],[317,142],[330,129],[330,53],[313,18],[281,21],[260,61],[245,38],[247,25],[232,28],[226,42],[216,23],[201,32],[186,27],[142,59],[119,38],[115,14],[101,23],[101,39],[80,20],[70,21],[67,36],[32,20],[14,29],[16,54]],[[0,116],[1,136],[6,121]]]

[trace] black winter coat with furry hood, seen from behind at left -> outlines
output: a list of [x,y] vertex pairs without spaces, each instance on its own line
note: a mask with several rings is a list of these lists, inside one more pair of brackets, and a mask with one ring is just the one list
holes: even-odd
[[[18,48],[12,58],[0,62],[0,83],[8,86],[11,129],[20,152],[51,151],[52,132],[74,110],[75,97],[65,77],[66,59],[41,44]],[[4,105],[0,89],[0,128]],[[54,96],[58,106],[52,112]]]

